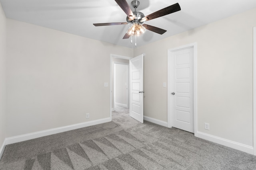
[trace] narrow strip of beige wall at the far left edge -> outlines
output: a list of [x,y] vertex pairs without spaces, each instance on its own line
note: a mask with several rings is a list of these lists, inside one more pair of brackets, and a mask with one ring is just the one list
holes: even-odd
[[0,4],[0,148],[6,137],[6,17]]

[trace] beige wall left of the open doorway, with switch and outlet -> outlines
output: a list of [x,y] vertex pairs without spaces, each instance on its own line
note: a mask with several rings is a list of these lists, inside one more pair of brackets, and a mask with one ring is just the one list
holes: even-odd
[[7,137],[110,116],[110,54],[132,49],[11,19],[7,28]]

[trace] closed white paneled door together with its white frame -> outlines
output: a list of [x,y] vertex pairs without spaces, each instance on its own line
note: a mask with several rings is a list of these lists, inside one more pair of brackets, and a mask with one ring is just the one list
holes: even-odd
[[196,43],[168,50],[168,127],[197,136]]

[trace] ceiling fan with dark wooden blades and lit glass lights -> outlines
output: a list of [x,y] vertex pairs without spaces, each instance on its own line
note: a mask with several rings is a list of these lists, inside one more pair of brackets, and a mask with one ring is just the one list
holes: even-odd
[[[127,15],[126,21],[127,22],[112,22],[112,23],[94,23],[95,26],[106,26],[106,25],[125,25],[125,24],[132,24],[132,26],[128,29],[126,34],[124,35],[123,39],[128,39],[130,36],[135,35],[139,36],[143,34],[146,29],[153,31],[155,33],[163,34],[166,32],[166,30],[154,27],[152,25],[147,25],[142,23],[144,21],[153,20],[158,17],[162,17],[177,11],[180,11],[180,5],[178,3],[173,4],[171,6],[168,6],[166,8],[163,8],[162,10],[158,10],[152,14],[149,14],[148,16],[144,16],[142,12],[137,11],[136,9],[140,5],[140,2],[138,0],[133,0],[131,2],[133,8],[135,9],[134,12],[132,12],[130,6],[126,2],[126,0],[115,0],[116,3],[122,8],[122,10]],[[135,44],[136,45],[136,44]]]

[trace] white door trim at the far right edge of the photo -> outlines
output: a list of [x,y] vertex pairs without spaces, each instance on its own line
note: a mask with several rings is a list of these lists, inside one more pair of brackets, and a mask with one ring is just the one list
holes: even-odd
[[253,154],[256,155],[256,27],[253,27]]

